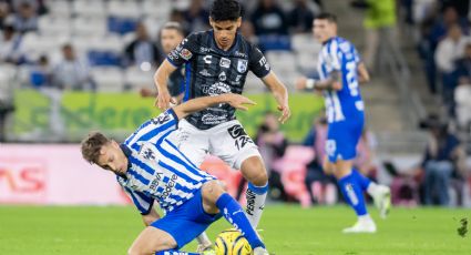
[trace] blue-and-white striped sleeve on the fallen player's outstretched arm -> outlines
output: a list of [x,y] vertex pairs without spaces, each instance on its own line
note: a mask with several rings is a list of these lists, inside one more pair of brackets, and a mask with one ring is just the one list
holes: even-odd
[[178,118],[173,109],[168,109],[158,116],[142,124],[124,142],[125,145],[139,150],[142,142],[156,143],[161,137],[178,129]]

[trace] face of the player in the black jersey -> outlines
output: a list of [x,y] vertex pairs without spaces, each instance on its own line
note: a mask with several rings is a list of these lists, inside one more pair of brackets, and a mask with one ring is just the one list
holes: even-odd
[[217,45],[223,50],[228,50],[233,45],[237,29],[242,24],[242,18],[238,18],[236,21],[214,21],[209,18],[209,23],[213,27],[214,39]]

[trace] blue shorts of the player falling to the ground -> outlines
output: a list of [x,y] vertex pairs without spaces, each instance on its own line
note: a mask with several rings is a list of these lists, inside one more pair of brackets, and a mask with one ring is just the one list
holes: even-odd
[[219,214],[208,214],[203,210],[201,188],[181,206],[153,222],[151,226],[168,233],[182,248],[203,233],[213,222],[221,218]]

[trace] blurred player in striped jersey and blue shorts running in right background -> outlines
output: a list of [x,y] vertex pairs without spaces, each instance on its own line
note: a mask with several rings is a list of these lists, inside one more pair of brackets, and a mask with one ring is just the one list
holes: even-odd
[[344,233],[375,233],[376,224],[367,212],[364,192],[373,197],[385,217],[390,206],[389,187],[371,182],[352,167],[365,124],[359,82],[368,81],[369,74],[355,45],[337,35],[334,14],[319,14],[313,26],[314,37],[322,43],[318,57],[320,78],[300,78],[297,88],[324,93],[328,121],[324,171],[336,176],[344,198],[358,216],[357,223]]

